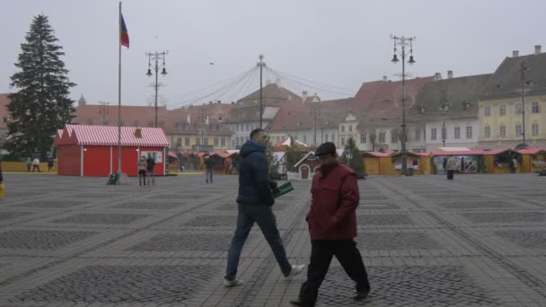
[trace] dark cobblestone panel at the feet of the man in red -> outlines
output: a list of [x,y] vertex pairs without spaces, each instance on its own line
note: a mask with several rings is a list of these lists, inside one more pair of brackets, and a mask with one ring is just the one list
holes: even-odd
[[[374,280],[374,302],[405,306],[498,305],[487,290],[476,285],[461,267],[457,266],[398,266],[372,267],[368,276]],[[328,306],[354,304],[354,287],[341,267],[330,269],[321,287],[319,301]]]

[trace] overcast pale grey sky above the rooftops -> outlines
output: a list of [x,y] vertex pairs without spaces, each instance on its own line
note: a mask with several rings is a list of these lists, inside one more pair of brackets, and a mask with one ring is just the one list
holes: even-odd
[[[66,56],[69,78],[88,103],[118,101],[118,6],[114,0],[1,0],[0,92],[10,92],[13,63],[32,17],[44,13]],[[232,101],[260,86],[258,75],[231,90],[208,95],[242,75],[265,55],[267,66],[310,81],[319,89],[281,83],[297,93],[318,92],[323,100],[337,86],[354,95],[361,83],[383,75],[400,79],[392,65],[390,34],[416,36],[414,76],[454,70],[454,76],[494,72],[512,50],[546,48],[544,0],[126,0],[123,15],[130,48],[122,48],[122,101],[145,105],[153,97],[145,75],[146,51],[168,50],[169,75],[161,76],[163,101],[171,108],[189,101]],[[214,65],[209,63],[213,62]],[[269,76],[269,75],[268,75]],[[235,80],[235,79],[233,79]],[[323,83],[326,85],[321,85]],[[325,91],[328,90],[328,91]]]

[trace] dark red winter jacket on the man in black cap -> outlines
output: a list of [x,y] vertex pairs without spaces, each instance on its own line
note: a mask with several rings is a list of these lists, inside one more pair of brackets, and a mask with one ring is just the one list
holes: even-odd
[[360,200],[357,174],[338,164],[326,176],[317,171],[311,188],[313,200],[308,215],[313,240],[350,240],[357,236],[357,210]]

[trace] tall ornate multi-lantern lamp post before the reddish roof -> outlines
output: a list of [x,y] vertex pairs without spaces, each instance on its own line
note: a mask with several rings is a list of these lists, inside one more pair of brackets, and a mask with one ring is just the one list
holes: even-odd
[[[413,41],[415,37],[407,38],[405,36],[391,35],[391,39],[394,42],[394,55],[392,57],[392,63],[398,63],[398,46],[401,48],[400,56],[402,57],[402,175],[408,175],[408,153],[406,152],[406,56],[410,56],[408,63],[410,65],[415,63],[413,59]],[[406,54],[406,46],[410,46],[410,53]]]

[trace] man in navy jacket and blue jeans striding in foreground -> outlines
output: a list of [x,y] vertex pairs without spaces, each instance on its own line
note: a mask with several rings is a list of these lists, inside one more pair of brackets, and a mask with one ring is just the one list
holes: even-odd
[[293,266],[288,262],[285,247],[277,230],[277,221],[271,210],[271,206],[275,204],[272,189],[277,189],[277,182],[269,180],[265,154],[267,144],[267,133],[263,129],[254,129],[251,132],[251,140],[242,145],[239,153],[242,158],[239,166],[239,195],[237,196],[239,214],[237,229],[227,255],[225,286],[242,285],[242,281],[235,277],[242,246],[254,222],[260,226],[286,278],[300,274],[305,268],[303,265]]

